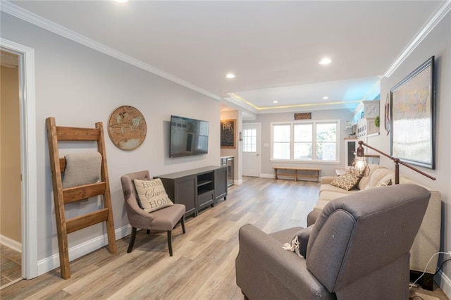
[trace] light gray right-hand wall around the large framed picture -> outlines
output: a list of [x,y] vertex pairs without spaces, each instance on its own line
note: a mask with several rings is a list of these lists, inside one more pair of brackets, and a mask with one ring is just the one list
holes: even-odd
[[[411,177],[414,180],[424,183],[424,185],[437,189],[442,195],[442,232],[441,250],[451,251],[451,13],[447,13],[445,18],[435,27],[435,29],[424,39],[413,53],[397,68],[395,73],[381,82],[381,123],[384,118],[385,96],[390,89],[397,85],[404,77],[409,75],[421,63],[424,63],[431,56],[435,56],[435,170],[419,168],[436,177],[432,181],[415,173],[413,170],[400,166],[400,173]],[[390,153],[390,136],[381,135],[371,140],[371,145],[386,153]],[[394,168],[393,163],[388,158],[383,158],[381,164],[388,168]],[[439,265],[444,258],[450,256],[440,256]],[[440,281],[440,287],[451,295],[451,263],[443,267],[445,277],[435,277]]]

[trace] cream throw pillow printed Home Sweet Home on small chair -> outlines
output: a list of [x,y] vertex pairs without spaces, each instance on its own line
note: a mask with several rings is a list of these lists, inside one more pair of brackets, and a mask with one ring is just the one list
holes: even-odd
[[168,194],[166,194],[166,189],[164,189],[161,179],[135,179],[133,183],[135,184],[141,206],[146,213],[152,213],[152,211],[157,211],[160,208],[174,205]]

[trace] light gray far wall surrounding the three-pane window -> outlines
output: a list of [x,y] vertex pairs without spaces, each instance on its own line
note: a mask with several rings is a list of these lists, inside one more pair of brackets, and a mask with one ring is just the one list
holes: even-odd
[[[272,122],[293,122],[294,113],[267,113],[257,115],[257,119],[243,121],[243,123],[261,123],[261,174],[272,176],[274,165],[297,165],[304,167],[321,168],[321,176],[335,176],[336,168],[345,168],[345,127],[346,121],[352,120],[352,111],[347,109],[335,109],[325,111],[298,111],[298,113],[311,112],[311,120],[340,120],[340,163],[271,163],[271,123]],[[264,146],[268,144],[269,146]]]

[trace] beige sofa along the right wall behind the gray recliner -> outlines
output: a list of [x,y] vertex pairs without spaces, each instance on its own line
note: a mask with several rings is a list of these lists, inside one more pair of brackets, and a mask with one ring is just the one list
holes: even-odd
[[[333,199],[346,196],[348,194],[354,194],[362,190],[373,189],[378,185],[383,185],[388,180],[395,182],[395,174],[393,170],[383,167],[382,165],[369,165],[370,173],[366,177],[362,177],[359,184],[354,189],[346,191],[339,187],[330,185],[330,182],[335,180],[336,177],[322,177],[321,187],[319,192],[319,199],[314,206],[314,210],[309,213],[307,218],[307,225],[311,225],[315,222],[321,210]],[[425,180],[426,179],[425,177]],[[440,251],[440,227],[441,227],[441,198],[440,192],[430,189],[419,182],[414,182],[408,177],[400,175],[400,185],[413,184],[425,187],[431,192],[431,199],[429,199],[428,209],[424,215],[423,223],[421,223],[420,230],[416,235],[412,249],[410,250],[410,270],[416,272],[423,272],[426,264],[433,254]],[[434,256],[426,269],[426,273],[432,275],[437,268],[438,256]],[[428,278],[428,275],[424,276]],[[433,282],[429,282],[431,285]],[[427,285],[426,283],[424,285]]]

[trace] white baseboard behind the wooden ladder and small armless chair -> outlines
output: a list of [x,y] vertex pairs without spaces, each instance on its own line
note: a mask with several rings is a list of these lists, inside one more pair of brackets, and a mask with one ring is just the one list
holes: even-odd
[[[122,239],[132,233],[132,227],[125,225],[114,231],[116,240]],[[69,259],[73,261],[81,256],[91,253],[108,244],[108,236],[106,234],[95,237],[87,242],[78,244],[69,249]],[[54,254],[37,262],[37,275],[42,275],[59,267],[59,254]]]

